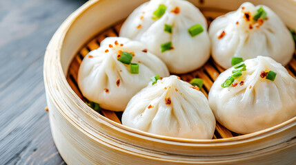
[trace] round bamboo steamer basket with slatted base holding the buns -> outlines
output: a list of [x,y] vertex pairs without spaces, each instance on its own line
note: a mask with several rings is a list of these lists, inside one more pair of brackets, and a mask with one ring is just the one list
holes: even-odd
[[[130,129],[120,112],[93,111],[77,87],[81,60],[106,36],[117,36],[128,14],[144,0],[88,1],[52,37],[44,58],[44,83],[52,137],[67,164],[295,164],[296,117],[263,131],[239,135],[217,123],[213,140],[188,140]],[[190,1],[208,21],[236,10],[244,1]],[[296,1],[250,1],[272,8],[296,29]],[[296,56],[286,66],[295,77]],[[204,67],[179,75],[204,79],[206,96],[219,73],[210,59]]]

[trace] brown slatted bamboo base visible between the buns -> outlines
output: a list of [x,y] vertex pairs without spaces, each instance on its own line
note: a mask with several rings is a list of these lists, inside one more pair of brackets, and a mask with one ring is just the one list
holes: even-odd
[[[206,8],[206,9],[201,8],[201,12],[205,15],[208,21],[208,25],[210,25],[210,22],[213,21],[213,19],[215,19],[220,15],[226,14],[226,12],[228,11],[210,9],[210,8]],[[108,36],[118,36],[119,30],[123,22],[124,20],[119,23],[116,23],[112,27],[106,30],[103,30],[103,32],[100,32],[99,34],[97,34],[89,42],[87,42],[86,45],[84,45],[81,48],[81,50],[77,53],[75,58],[72,60],[70,67],[68,69],[68,74],[66,76],[66,79],[70,87],[73,89],[73,91],[75,91],[77,96],[81,98],[81,100],[83,101],[86,100],[86,98],[84,98],[83,95],[81,94],[81,91],[79,90],[79,87],[77,85],[77,74],[78,74],[78,69],[81,64],[81,61],[86,56],[86,54],[88,54],[88,52],[97,49],[101,41],[103,41],[103,39],[105,39]],[[286,69],[288,69],[288,72],[290,73],[290,75],[295,78],[296,52],[293,56],[292,61],[290,61],[290,63],[286,66]],[[190,72],[187,74],[179,74],[178,76],[180,76],[182,80],[185,80],[187,82],[190,82],[190,80],[192,80],[193,78],[202,78],[204,80],[204,86],[201,88],[201,92],[203,92],[204,95],[208,98],[208,92],[210,91],[210,87],[213,85],[213,82],[216,80],[216,78],[219,76],[221,72],[224,72],[224,69],[219,65],[217,65],[217,63],[213,61],[213,58],[210,58],[210,60],[206,63],[206,65],[204,65],[200,69],[197,69],[196,71]],[[99,113],[105,116],[106,118],[121,124],[121,115],[123,112],[115,112],[115,111],[108,111],[106,109],[102,109],[102,111]],[[219,124],[219,122],[217,122],[213,139],[235,137],[239,135],[241,134],[232,132],[226,129],[221,124]]]

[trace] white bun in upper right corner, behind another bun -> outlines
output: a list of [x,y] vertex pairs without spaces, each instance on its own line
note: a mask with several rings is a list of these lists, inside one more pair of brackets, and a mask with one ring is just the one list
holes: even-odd
[[218,17],[210,24],[212,56],[224,68],[233,56],[244,60],[269,56],[286,65],[295,43],[283,21],[265,5],[243,3],[237,11]]

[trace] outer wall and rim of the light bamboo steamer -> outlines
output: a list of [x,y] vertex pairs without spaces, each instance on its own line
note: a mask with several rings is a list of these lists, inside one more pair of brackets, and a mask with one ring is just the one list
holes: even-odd
[[[175,140],[175,138],[166,138],[149,135],[147,133],[141,133],[139,131],[119,126],[119,124],[107,120],[103,116],[96,114],[96,112],[94,113],[92,109],[88,108],[83,102],[81,102],[80,98],[76,96],[76,94],[68,85],[66,78],[63,75],[61,63],[59,63],[59,61],[61,61],[59,55],[61,54],[62,45],[66,34],[71,28],[70,25],[73,23],[73,21],[75,21],[75,18],[78,17],[79,14],[83,14],[83,11],[90,8],[90,6],[95,5],[96,3],[99,2],[89,1],[86,3],[86,5],[83,5],[83,7],[79,8],[77,12],[73,13],[63,23],[63,25],[61,25],[55,36],[52,38],[52,41],[50,41],[50,45],[48,45],[46,57],[44,60],[44,81],[46,85],[48,107],[50,109],[52,135],[59,151],[61,151],[62,157],[64,157],[65,160],[68,160],[68,162],[71,163],[72,159],[75,159],[70,156],[69,153],[67,153],[72,149],[72,152],[75,153],[75,156],[77,156],[78,162],[85,161],[82,162],[82,164],[88,164],[88,161],[90,161],[90,163],[94,163],[92,161],[98,161],[97,159],[90,157],[90,155],[98,156],[99,154],[94,155],[93,153],[90,153],[90,150],[87,150],[85,147],[83,147],[83,145],[75,146],[77,144],[73,144],[73,142],[77,142],[77,140],[72,137],[74,135],[78,139],[81,138],[81,142],[83,142],[85,145],[93,145],[95,148],[91,147],[92,149],[99,148],[99,151],[95,150],[97,152],[103,150],[112,151],[114,152],[114,156],[121,157],[123,159],[132,157],[133,159],[139,160],[140,162],[143,159],[151,159],[151,161],[153,160],[159,163],[168,163],[173,161],[175,163],[179,162],[180,164],[191,164],[193,162],[217,164],[217,162],[215,163],[213,161],[217,160],[220,163],[244,162],[245,160],[250,160],[251,158],[256,159],[256,157],[258,160],[260,159],[260,155],[266,154],[270,159],[277,157],[277,155],[282,155],[284,157],[287,157],[288,155],[288,157],[291,157],[293,155],[290,155],[290,153],[293,153],[293,151],[293,154],[295,154],[296,130],[294,118],[278,125],[278,127],[275,126],[274,129],[270,128],[270,130],[266,132],[259,132],[257,134],[255,133],[253,136],[242,135],[237,138],[232,137],[234,139],[228,138],[224,140],[191,141],[182,139]],[[56,80],[61,81],[55,82]],[[71,104],[69,104],[69,102]],[[72,133],[74,134],[66,134],[68,130],[66,128],[72,129]],[[121,135],[118,135],[118,133]],[[283,133],[286,133],[287,137],[283,138],[281,135]],[[63,138],[61,135],[63,135]],[[294,138],[291,138],[293,135]],[[68,147],[63,145],[63,143],[69,144]],[[256,145],[250,143],[255,143]],[[151,144],[155,145],[155,148],[149,146]],[[259,147],[257,144],[259,144]],[[265,144],[271,144],[271,146],[266,147],[264,146]],[[252,146],[255,146],[253,150],[246,149]],[[171,147],[175,151],[166,151],[168,147]],[[223,152],[228,150],[227,148],[232,149],[233,147],[239,147],[242,150],[246,150],[235,152],[235,155],[231,154],[231,151]],[[279,147],[276,150],[277,153],[283,151],[283,148],[288,148],[288,151],[290,152],[286,155],[283,155],[283,153],[275,154],[275,151],[268,152],[274,147]],[[192,151],[186,151],[188,148],[193,150],[193,153],[191,153]],[[256,151],[256,155],[250,154],[250,151],[254,151],[254,149]],[[203,151],[201,152],[198,150]],[[287,150],[284,151],[286,152]],[[213,153],[211,154],[211,152]],[[90,155],[83,155],[82,157],[77,155],[79,153],[88,153]],[[234,153],[234,151],[232,153]],[[245,155],[243,155],[243,153]],[[103,155],[108,157],[106,154]],[[168,156],[166,157],[166,155]],[[99,158],[102,157],[99,156]],[[191,161],[193,159],[194,161]],[[124,160],[121,161],[124,162]],[[77,162],[75,163],[73,161],[73,164],[77,164]]]

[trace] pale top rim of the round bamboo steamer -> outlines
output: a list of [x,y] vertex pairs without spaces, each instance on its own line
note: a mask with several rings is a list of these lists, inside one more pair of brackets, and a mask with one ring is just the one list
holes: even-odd
[[[170,144],[172,142],[182,143],[182,145],[184,145],[184,144],[188,144],[188,145],[207,144],[207,145],[213,145],[213,146],[224,146],[224,145],[228,145],[228,144],[235,145],[235,144],[239,144],[239,143],[243,143],[243,142],[248,142],[249,140],[259,140],[259,139],[262,139],[266,136],[273,135],[273,133],[279,133],[285,129],[296,126],[296,117],[294,117],[294,118],[291,118],[290,120],[287,120],[286,122],[282,122],[281,124],[277,124],[276,126],[270,127],[268,129],[264,129],[262,131],[257,131],[255,133],[248,133],[246,135],[239,135],[237,137],[228,137],[228,138],[222,138],[222,139],[216,139],[216,140],[195,140],[195,139],[186,139],[186,138],[180,138],[180,137],[168,137],[168,136],[163,136],[163,135],[155,135],[152,133],[139,131],[137,129],[132,129],[132,128],[129,128],[128,126],[124,126],[122,124],[114,122],[114,121],[104,117],[103,115],[100,115],[99,113],[97,113],[96,111],[94,111],[93,109],[88,107],[72,90],[72,88],[68,84],[66,77],[63,73],[60,55],[61,55],[61,47],[63,47],[63,41],[66,38],[66,36],[68,35],[68,30],[70,29],[71,25],[75,21],[77,21],[77,19],[79,19],[80,14],[83,14],[89,8],[91,8],[92,5],[94,5],[95,3],[99,3],[101,1],[107,1],[107,0],[91,0],[91,1],[86,2],[79,9],[77,9],[75,12],[73,12],[70,15],[70,17],[68,17],[66,19],[66,21],[63,22],[61,27],[57,30],[55,35],[52,37],[52,40],[50,41],[50,43],[47,47],[46,57],[44,58],[45,64],[46,64],[46,61],[49,61],[49,58],[51,58],[51,60],[55,60],[53,57],[51,57],[49,55],[49,54],[52,54],[52,52],[50,52],[50,51],[55,52],[56,61],[59,62],[56,64],[57,65],[57,75],[59,75],[62,87],[65,87],[66,91],[68,91],[70,94],[69,97],[72,98],[72,100],[75,100],[75,102],[78,102],[81,110],[90,114],[91,118],[94,118],[95,120],[99,120],[99,122],[110,124],[110,126],[112,126],[113,129],[117,129],[118,131],[121,131],[121,132],[125,131],[128,133],[132,133],[132,135],[135,135],[135,136],[138,136],[138,137],[141,137],[144,139],[149,138],[152,141],[161,140],[161,142],[166,142],[166,143],[170,143]],[[295,3],[295,5],[296,5],[296,1],[294,1],[294,0],[288,0],[288,1],[291,1],[291,2]],[[44,68],[45,68],[44,73],[43,73],[45,75],[44,81],[46,83],[50,84],[51,80],[50,80],[50,78],[48,78],[48,76],[46,76],[48,74],[48,73],[46,73],[46,65]],[[55,87],[52,88],[52,87],[49,87],[48,85],[46,85],[46,88],[50,91],[49,96],[52,100],[55,100],[56,106],[58,106],[59,104],[66,104],[65,100],[57,100],[57,99],[55,99],[57,97],[53,97],[56,94]],[[64,118],[66,118],[66,120],[68,120],[72,124],[76,124],[77,126],[79,126],[79,123],[77,121],[70,118],[68,115],[63,113],[63,111],[61,111],[61,114],[63,114],[63,116],[64,116]],[[81,126],[79,126],[79,127],[81,128]],[[88,134],[82,128],[81,128],[81,131],[83,133],[85,133],[86,135]],[[96,138],[94,138],[94,139],[96,139]]]

